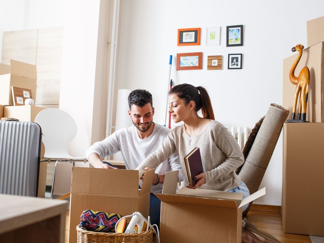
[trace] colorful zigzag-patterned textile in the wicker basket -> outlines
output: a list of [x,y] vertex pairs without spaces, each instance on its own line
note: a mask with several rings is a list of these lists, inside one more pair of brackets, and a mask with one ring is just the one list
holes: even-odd
[[121,217],[119,214],[109,214],[88,209],[81,214],[79,226],[90,231],[115,232],[115,225]]

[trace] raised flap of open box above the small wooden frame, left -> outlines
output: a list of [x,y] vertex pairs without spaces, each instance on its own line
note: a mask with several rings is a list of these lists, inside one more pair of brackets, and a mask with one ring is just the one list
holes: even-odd
[[10,69],[11,75],[37,80],[37,70],[33,64],[10,60]]

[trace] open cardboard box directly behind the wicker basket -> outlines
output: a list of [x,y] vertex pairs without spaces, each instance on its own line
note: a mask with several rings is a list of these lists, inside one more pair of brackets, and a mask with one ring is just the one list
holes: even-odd
[[76,242],[76,226],[86,209],[120,214],[140,212],[148,217],[155,169],[146,171],[138,189],[138,170],[72,168],[69,242]]

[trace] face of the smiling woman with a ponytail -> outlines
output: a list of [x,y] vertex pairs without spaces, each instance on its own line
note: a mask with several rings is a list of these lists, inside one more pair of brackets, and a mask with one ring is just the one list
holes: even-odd
[[186,118],[189,115],[189,105],[187,105],[183,99],[180,99],[177,94],[171,94],[168,98],[169,110],[173,122],[177,123]]

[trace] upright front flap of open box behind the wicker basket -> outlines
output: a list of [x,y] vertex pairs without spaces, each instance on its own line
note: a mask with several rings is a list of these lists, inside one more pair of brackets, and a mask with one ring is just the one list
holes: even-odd
[[138,170],[72,167],[71,193],[138,197]]

